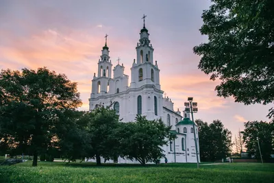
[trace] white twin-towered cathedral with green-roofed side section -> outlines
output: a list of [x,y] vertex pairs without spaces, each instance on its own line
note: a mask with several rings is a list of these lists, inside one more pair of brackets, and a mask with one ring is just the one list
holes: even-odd
[[[161,118],[166,125],[172,127],[171,133],[177,135],[175,141],[162,147],[168,162],[197,162],[194,141],[196,132],[197,149],[199,149],[197,128],[193,130],[193,122],[190,121],[188,113],[184,112],[183,119],[179,109],[173,110],[171,99],[163,97],[164,91],[160,86],[160,69],[157,61],[153,60],[154,49],[149,40],[149,31],[145,27],[145,17],[143,18],[144,26],[140,30],[140,39],[136,46],[137,58],[132,64],[130,84],[129,75],[125,75],[123,64],[118,63],[112,70],[110,51],[107,46],[108,35],[105,36],[105,46],[98,62],[98,73],[97,76],[94,74],[92,80],[89,109],[93,110],[97,105],[109,106],[114,102],[112,106],[123,122],[134,121],[136,114],[147,116],[148,120]],[[123,158],[119,158],[118,162],[138,163],[137,160]],[[161,162],[164,162],[164,158]]]

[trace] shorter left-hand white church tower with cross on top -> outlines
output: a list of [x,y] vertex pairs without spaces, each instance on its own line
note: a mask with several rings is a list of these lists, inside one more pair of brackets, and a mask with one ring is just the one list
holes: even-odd
[[112,63],[110,60],[107,46],[108,34],[105,35],[105,46],[102,49],[102,54],[98,62],[98,74],[93,76],[92,80],[92,97],[94,95],[104,95],[109,90],[109,80],[112,76]]

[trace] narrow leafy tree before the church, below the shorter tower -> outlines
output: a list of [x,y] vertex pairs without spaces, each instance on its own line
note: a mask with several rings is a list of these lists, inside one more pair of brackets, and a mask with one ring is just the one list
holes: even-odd
[[[90,142],[89,158],[96,158],[97,165],[101,164],[101,157],[113,159],[117,156],[118,142],[113,135],[119,126],[119,115],[110,106],[98,106],[88,113],[88,136]],[[118,149],[117,149],[118,148]]]

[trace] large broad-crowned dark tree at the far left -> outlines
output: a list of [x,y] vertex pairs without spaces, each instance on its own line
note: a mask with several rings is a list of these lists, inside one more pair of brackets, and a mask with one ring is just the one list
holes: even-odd
[[4,136],[11,149],[34,156],[32,166],[54,140],[58,114],[82,104],[77,84],[46,68],[1,70],[0,103]]

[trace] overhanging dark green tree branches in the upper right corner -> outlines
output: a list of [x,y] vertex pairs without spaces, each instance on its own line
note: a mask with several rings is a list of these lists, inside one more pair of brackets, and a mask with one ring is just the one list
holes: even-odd
[[[199,69],[219,78],[218,96],[236,102],[274,101],[274,1],[212,0],[202,14],[208,42],[193,48]],[[269,110],[274,118],[274,108]]]

